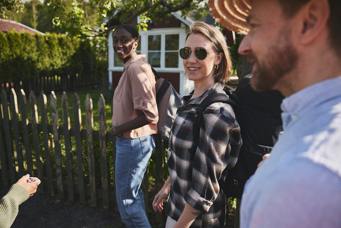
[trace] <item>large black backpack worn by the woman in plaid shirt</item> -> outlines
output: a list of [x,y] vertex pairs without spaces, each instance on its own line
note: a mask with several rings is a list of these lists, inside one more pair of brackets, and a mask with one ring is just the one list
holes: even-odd
[[252,71],[249,71],[240,80],[235,93],[225,90],[226,95],[214,93],[207,96],[199,105],[193,122],[193,137],[197,145],[203,111],[210,104],[223,102],[234,109],[243,142],[236,165],[224,170],[228,174],[219,180],[227,198],[241,199],[246,181],[256,171],[263,155],[270,153],[283,131],[280,109],[283,96],[278,91],[255,92],[250,86],[251,77]]

